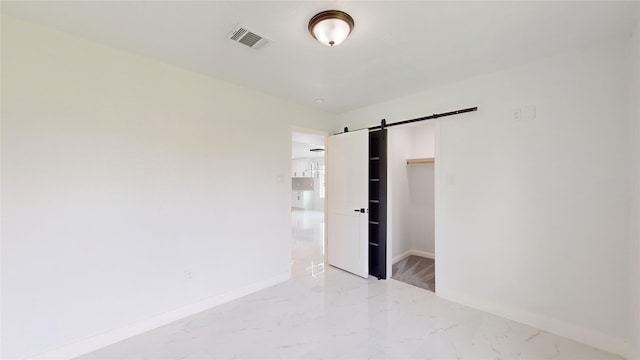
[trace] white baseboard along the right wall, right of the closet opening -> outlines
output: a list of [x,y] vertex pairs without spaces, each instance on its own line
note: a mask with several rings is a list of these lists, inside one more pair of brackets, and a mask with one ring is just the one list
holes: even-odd
[[505,306],[485,299],[458,294],[455,291],[443,288],[442,285],[438,286],[437,295],[474,309],[486,311],[610,353],[621,355],[625,358],[631,358],[633,356],[632,346],[627,341],[603,334],[596,330],[583,328],[562,320]]

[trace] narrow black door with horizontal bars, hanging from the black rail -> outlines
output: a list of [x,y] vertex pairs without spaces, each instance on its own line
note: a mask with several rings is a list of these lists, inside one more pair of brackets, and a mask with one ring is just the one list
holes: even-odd
[[369,132],[369,275],[387,278],[387,129]]

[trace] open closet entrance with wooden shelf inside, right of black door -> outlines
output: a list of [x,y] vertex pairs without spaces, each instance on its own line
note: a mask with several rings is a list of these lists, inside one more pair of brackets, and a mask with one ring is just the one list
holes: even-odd
[[435,122],[388,128],[391,278],[435,292]]

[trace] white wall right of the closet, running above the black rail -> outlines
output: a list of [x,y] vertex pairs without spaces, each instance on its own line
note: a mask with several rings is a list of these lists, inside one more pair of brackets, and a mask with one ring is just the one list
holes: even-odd
[[[479,106],[436,120],[440,296],[630,352],[630,47],[612,40],[338,117],[336,129],[359,128]],[[535,119],[512,119],[529,105]]]

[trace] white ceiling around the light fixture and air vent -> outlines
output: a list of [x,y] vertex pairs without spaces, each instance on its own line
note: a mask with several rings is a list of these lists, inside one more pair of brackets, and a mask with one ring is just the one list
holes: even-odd
[[[638,1],[2,1],[5,14],[336,113],[628,36],[637,7]],[[313,15],[331,8],[356,22],[334,48],[307,31]],[[238,23],[273,42],[255,50],[228,40]]]

